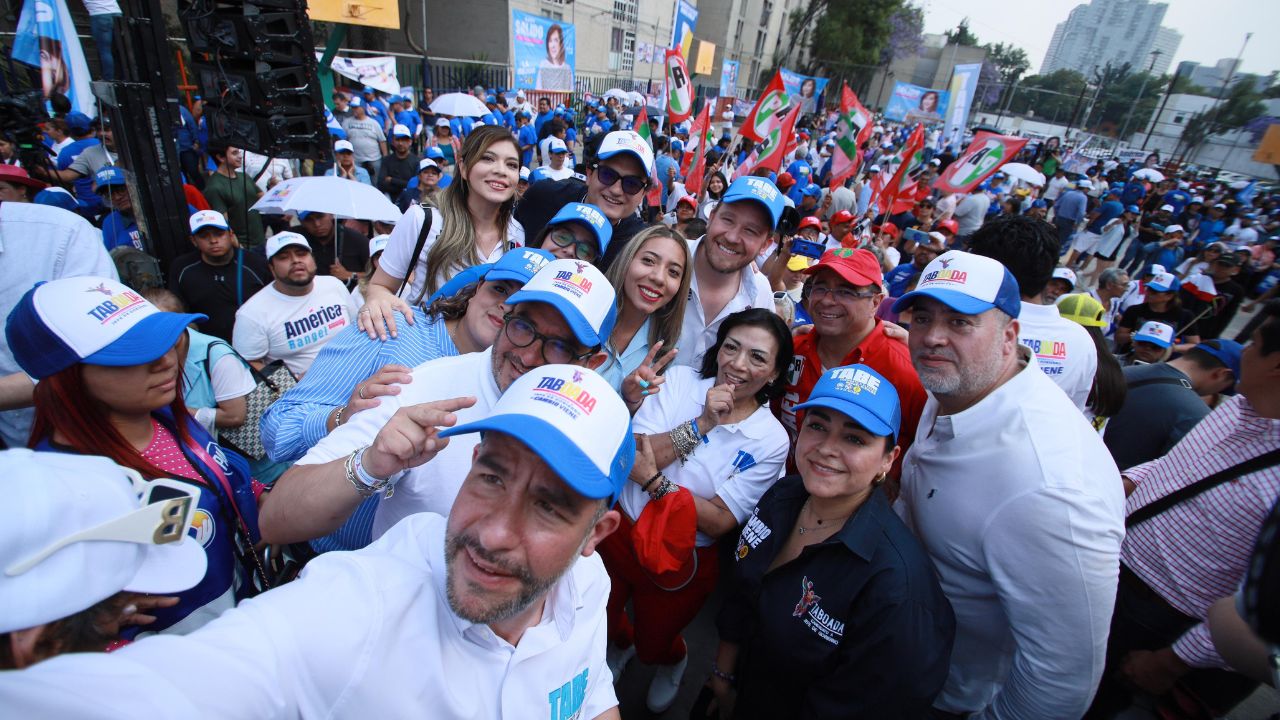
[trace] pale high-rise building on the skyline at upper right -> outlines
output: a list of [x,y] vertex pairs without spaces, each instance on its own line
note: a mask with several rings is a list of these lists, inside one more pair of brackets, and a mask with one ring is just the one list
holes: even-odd
[[[1181,33],[1160,24],[1167,8],[1147,0],[1092,0],[1076,5],[1066,22],[1053,29],[1041,74],[1070,69],[1091,76],[1107,63],[1112,67],[1129,63],[1134,72],[1151,69],[1164,74],[1183,40]],[[1158,55],[1152,55],[1157,50]]]

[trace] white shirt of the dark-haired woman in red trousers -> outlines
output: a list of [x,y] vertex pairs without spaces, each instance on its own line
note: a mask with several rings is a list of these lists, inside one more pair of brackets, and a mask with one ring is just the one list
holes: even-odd
[[[703,414],[707,391],[716,378],[703,379],[692,368],[667,372],[662,392],[645,400],[631,423],[632,430],[664,434],[676,425]],[[786,469],[790,450],[787,430],[762,405],[748,419],[733,425],[716,425],[707,433],[707,442],[685,462],[676,460],[662,469],[667,479],[704,500],[719,496],[739,524],[746,521],[756,501]],[[627,483],[618,498],[622,510],[636,519],[649,503],[649,493],[636,483]],[[698,547],[707,547],[714,538],[698,533]]]

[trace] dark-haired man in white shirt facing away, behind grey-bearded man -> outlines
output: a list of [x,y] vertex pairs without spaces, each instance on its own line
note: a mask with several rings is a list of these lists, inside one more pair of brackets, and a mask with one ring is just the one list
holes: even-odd
[[1000,261],[1018,281],[1023,299],[1018,341],[1083,411],[1098,370],[1098,350],[1088,331],[1061,316],[1052,302],[1044,304],[1044,287],[1057,266],[1057,231],[1024,215],[1000,218],[969,237],[969,250]]

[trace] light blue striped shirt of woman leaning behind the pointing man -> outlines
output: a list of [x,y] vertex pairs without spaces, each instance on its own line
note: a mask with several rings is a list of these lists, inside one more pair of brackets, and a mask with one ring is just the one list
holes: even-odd
[[[262,446],[275,461],[293,461],[329,434],[329,414],[344,405],[356,384],[388,363],[416,368],[438,357],[458,354],[443,318],[428,318],[413,307],[413,324],[397,313],[398,337],[369,340],[352,325],[325,345],[302,380],[262,415]],[[375,495],[360,503],[355,514],[333,534],[311,541],[317,552],[358,550],[372,537]]]

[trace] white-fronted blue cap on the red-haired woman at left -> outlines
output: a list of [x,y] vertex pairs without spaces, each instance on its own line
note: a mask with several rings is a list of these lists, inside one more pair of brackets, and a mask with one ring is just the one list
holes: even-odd
[[23,372],[44,379],[77,363],[151,363],[207,319],[163,313],[118,281],[81,275],[36,283],[9,313],[5,337]]

